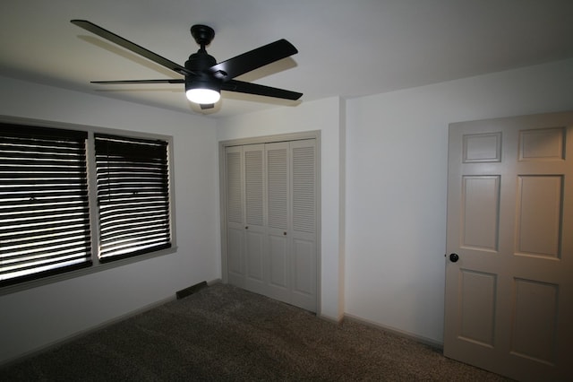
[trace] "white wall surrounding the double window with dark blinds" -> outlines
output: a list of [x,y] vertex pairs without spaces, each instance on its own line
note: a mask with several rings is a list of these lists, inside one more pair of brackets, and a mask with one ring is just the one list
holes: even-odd
[[0,77],[0,114],[174,137],[176,253],[0,296],[0,363],[220,278],[215,123]]

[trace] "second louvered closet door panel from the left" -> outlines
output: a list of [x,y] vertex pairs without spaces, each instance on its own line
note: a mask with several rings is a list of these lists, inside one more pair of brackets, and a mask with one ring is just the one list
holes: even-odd
[[243,147],[245,288],[265,294],[264,144]]

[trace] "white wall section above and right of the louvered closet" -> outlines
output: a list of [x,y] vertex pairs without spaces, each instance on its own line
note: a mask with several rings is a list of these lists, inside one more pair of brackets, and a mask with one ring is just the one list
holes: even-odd
[[293,108],[269,109],[218,120],[218,140],[321,130],[321,286],[320,314],[338,320],[344,313],[344,224],[340,205],[341,182],[340,110],[338,98],[304,102]]

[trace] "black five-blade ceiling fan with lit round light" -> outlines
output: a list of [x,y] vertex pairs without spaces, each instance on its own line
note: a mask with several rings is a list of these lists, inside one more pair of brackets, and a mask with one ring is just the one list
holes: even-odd
[[184,75],[182,79],[92,81],[91,83],[184,83],[187,99],[198,103],[201,109],[213,108],[220,98],[220,91],[236,91],[284,100],[298,100],[303,95],[303,93],[295,91],[286,91],[257,83],[234,80],[235,77],[241,74],[251,72],[263,65],[268,65],[298,53],[293,44],[286,41],[286,39],[278,39],[268,45],[250,50],[217,64],[215,58],[210,56],[205,50],[205,47],[215,37],[215,30],[207,25],[193,25],[191,27],[192,37],[201,48],[197,53],[189,56],[184,66],[181,66],[109,30],[105,30],[93,22],[86,20],[72,20],[71,22],[103,39],[107,39],[131,50],[133,53],[148,58],[158,65],[165,66],[177,74]]

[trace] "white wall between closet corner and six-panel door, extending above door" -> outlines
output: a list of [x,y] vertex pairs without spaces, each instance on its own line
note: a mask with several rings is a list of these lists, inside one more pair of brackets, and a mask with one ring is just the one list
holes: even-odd
[[573,109],[573,60],[346,101],[346,314],[443,343],[448,125]]

